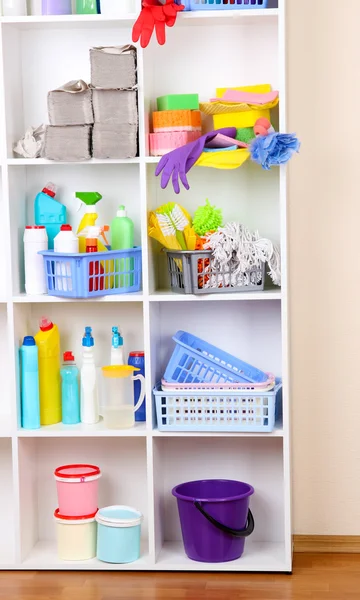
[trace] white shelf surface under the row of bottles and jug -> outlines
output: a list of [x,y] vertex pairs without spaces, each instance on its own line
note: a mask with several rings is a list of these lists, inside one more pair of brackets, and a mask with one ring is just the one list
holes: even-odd
[[44,437],[144,437],[146,436],[146,424],[136,423],[132,429],[105,429],[101,420],[96,425],[64,425],[57,423],[41,427],[40,429],[18,429],[18,437],[44,438]]

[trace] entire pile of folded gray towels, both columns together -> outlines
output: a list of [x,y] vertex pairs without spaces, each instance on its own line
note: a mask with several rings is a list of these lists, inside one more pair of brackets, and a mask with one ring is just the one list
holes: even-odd
[[45,158],[82,161],[137,155],[136,49],[92,48],[90,62],[91,86],[70,81],[48,94]]

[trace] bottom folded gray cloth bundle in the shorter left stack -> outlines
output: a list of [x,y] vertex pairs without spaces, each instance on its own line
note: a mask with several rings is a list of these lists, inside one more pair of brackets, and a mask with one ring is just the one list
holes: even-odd
[[45,132],[44,157],[49,160],[80,161],[91,158],[91,125],[53,127]]

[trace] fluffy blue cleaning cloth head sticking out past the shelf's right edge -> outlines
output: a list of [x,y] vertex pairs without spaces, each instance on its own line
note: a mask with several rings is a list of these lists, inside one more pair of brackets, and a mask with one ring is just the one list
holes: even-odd
[[299,148],[300,142],[294,133],[258,135],[250,145],[252,160],[266,171],[273,165],[285,165]]

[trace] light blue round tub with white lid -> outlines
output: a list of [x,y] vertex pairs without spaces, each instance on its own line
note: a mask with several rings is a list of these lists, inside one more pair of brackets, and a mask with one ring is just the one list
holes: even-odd
[[113,564],[127,564],[140,558],[142,514],[129,506],[100,508],[96,556]]

